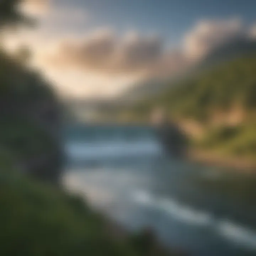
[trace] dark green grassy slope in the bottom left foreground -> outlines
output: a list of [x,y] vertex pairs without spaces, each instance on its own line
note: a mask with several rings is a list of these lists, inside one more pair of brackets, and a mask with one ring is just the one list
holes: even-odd
[[0,209],[1,255],[137,255],[81,198],[15,171],[0,172]]

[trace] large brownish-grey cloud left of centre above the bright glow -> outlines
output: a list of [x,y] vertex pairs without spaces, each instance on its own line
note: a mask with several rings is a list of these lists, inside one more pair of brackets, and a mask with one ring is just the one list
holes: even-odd
[[133,73],[145,72],[162,55],[159,37],[129,32],[120,38],[110,28],[102,28],[83,39],[60,42],[58,51],[48,57],[48,62],[105,73]]

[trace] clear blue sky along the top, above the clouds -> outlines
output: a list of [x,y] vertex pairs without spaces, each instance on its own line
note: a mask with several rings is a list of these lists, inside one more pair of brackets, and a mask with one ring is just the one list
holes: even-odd
[[158,33],[177,45],[183,34],[201,19],[239,17],[245,24],[256,20],[255,0],[55,0],[87,10],[90,24],[84,29],[111,26],[119,32]]

